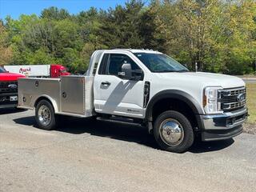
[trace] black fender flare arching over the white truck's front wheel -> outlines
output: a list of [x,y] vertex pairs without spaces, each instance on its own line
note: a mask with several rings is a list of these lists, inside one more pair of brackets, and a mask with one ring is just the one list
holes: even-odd
[[154,104],[165,98],[175,98],[179,99],[182,102],[186,102],[190,109],[193,110],[194,114],[204,114],[200,104],[192,97],[190,94],[182,90],[162,90],[158,94],[155,94],[153,98],[150,99],[146,107],[146,120],[149,122],[153,121],[152,112]]

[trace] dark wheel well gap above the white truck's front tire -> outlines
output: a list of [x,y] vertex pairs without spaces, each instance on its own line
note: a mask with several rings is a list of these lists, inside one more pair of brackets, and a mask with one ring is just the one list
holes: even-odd
[[175,110],[180,112],[181,114],[185,115],[186,118],[188,118],[193,128],[198,127],[198,122],[194,111],[186,102],[183,102],[178,98],[163,98],[154,103],[152,108],[153,122],[156,118],[158,118],[159,114],[162,114],[166,110]]

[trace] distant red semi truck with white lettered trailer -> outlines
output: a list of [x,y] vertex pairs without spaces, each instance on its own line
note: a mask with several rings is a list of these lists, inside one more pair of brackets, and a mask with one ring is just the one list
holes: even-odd
[[24,74],[30,78],[59,78],[70,75],[66,67],[60,64],[51,65],[25,65],[25,66],[4,66],[7,71],[17,74]]

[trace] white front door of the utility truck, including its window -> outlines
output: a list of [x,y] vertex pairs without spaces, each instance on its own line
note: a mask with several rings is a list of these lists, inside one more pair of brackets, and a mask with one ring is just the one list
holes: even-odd
[[126,80],[118,76],[122,64],[139,66],[126,54],[104,54],[94,77],[94,107],[96,112],[133,118],[143,118],[143,80]]

